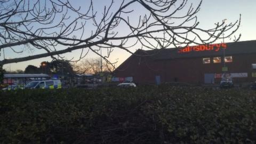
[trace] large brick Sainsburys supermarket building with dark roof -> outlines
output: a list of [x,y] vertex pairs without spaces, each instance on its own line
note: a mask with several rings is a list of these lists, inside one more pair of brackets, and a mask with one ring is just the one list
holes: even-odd
[[219,83],[223,75],[256,81],[256,41],[138,50],[114,71],[115,79],[138,84]]

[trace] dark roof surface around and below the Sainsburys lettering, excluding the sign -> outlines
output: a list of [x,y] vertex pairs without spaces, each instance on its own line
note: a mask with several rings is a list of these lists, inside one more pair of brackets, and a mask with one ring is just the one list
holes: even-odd
[[[243,42],[234,42],[226,43],[227,48],[225,49],[225,55],[234,55],[234,54],[249,54],[256,53],[256,41],[243,41]],[[193,47],[193,46],[191,46]],[[164,59],[175,59],[175,58],[193,58],[193,57],[211,57],[211,56],[221,56],[223,55],[223,49],[219,51],[190,51],[190,52],[181,52],[181,48],[172,48],[172,49],[161,49],[161,50],[148,50],[143,51],[145,55],[151,55],[151,58],[154,60],[164,60]],[[143,54],[144,55],[144,54]]]

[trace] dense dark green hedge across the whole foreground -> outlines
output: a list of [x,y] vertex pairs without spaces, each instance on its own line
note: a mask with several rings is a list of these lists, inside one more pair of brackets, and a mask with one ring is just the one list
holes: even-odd
[[162,85],[0,91],[0,143],[255,143],[256,92]]

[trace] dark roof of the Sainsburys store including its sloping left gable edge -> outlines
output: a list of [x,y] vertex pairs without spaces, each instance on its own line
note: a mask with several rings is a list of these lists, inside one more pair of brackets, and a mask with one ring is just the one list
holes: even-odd
[[[190,48],[190,51],[188,52],[180,52],[182,50],[185,51],[187,47],[157,49],[157,50],[147,50],[147,51],[139,49],[134,54],[132,54],[128,59],[126,59],[123,63],[121,63],[121,65],[119,65],[113,71],[113,73],[115,73],[116,71],[124,71],[122,69],[122,66],[125,65],[125,63],[129,62],[129,60],[133,59],[134,57],[141,56],[141,55],[148,56],[152,60],[167,60],[167,59],[196,58],[196,57],[221,57],[223,55],[223,50],[224,50],[223,47],[225,47],[225,55],[227,56],[234,55],[234,54],[256,53],[256,40],[218,44],[220,45],[219,50],[217,49],[218,46],[216,45],[217,44],[207,44],[206,45],[207,49],[211,47],[211,50],[205,50],[205,51],[196,51],[197,49],[196,46],[189,46],[191,48]],[[200,49],[200,46],[197,45],[197,47],[199,47]]]

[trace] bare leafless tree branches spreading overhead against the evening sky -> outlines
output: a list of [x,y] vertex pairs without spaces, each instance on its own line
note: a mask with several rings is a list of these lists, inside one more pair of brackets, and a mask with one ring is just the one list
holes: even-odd
[[[0,65],[49,56],[64,59],[61,54],[74,50],[81,50],[76,60],[92,51],[108,61],[115,48],[132,53],[133,46],[164,49],[212,43],[223,33],[225,37],[233,35],[241,21],[240,16],[233,23],[199,28],[196,14],[202,1],[109,0],[98,12],[94,1],[86,2],[76,7],[67,0],[0,0],[0,52],[42,51],[13,59],[4,55]],[[138,14],[138,9],[143,13]],[[101,55],[99,49],[108,53]]]

